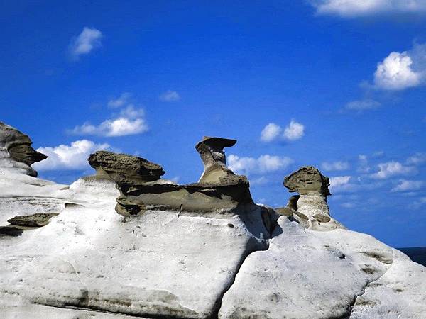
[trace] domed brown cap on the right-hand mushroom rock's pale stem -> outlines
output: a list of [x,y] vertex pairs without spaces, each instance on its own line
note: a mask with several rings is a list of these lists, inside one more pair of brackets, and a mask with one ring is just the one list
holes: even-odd
[[284,186],[290,192],[296,191],[301,195],[320,193],[324,196],[331,195],[328,189],[330,180],[313,166],[305,166],[284,178]]

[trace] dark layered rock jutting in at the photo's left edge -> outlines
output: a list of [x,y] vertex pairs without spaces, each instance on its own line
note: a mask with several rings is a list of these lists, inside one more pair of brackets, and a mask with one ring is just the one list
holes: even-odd
[[32,143],[28,135],[0,122],[0,167],[37,177],[31,165],[48,157],[34,150]]

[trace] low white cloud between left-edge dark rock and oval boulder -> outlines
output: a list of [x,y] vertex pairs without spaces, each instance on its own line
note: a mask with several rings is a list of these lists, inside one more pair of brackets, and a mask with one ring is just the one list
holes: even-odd
[[89,167],[87,158],[97,150],[107,150],[108,144],[96,144],[91,140],[76,140],[70,145],[55,147],[39,147],[38,152],[48,155],[48,158],[33,164],[40,171],[54,169],[85,169]]

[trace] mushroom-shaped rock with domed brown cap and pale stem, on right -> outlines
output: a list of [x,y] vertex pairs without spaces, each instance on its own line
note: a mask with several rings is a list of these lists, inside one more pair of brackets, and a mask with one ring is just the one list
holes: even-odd
[[[317,168],[305,166],[297,169],[284,178],[284,186],[290,192],[299,193],[290,197],[287,208],[293,210],[293,216],[300,223],[317,230],[343,227],[330,217],[327,204],[327,196],[331,195],[328,189],[329,178],[322,175]],[[324,223],[329,224],[324,226]]]

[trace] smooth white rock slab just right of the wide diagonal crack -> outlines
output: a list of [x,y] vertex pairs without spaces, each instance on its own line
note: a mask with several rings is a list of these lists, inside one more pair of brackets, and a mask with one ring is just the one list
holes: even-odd
[[[349,230],[304,230],[280,217],[266,251],[253,252],[219,318],[337,318],[391,267],[392,250]],[[379,260],[380,259],[380,260]]]

